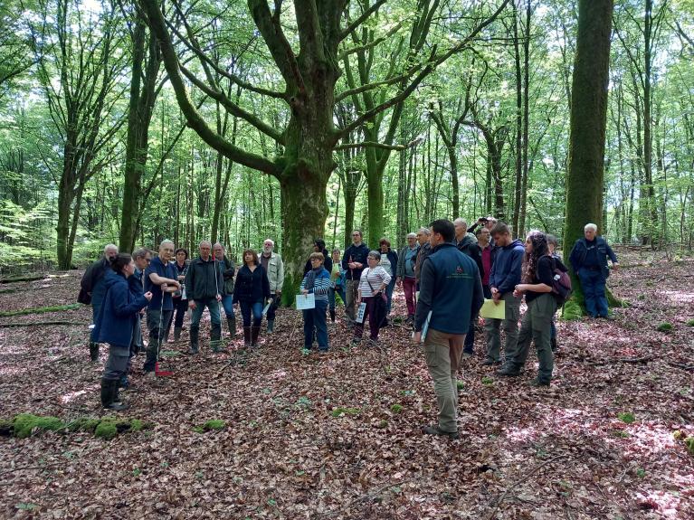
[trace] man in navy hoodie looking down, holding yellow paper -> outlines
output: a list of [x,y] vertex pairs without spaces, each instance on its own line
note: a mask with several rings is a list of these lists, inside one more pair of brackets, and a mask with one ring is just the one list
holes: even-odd
[[520,298],[513,296],[513,291],[520,283],[520,270],[523,265],[525,246],[523,242],[511,238],[511,230],[504,222],[497,222],[491,229],[491,236],[496,245],[496,256],[491,266],[490,291],[495,305],[506,307],[504,319],[488,318],[484,321],[487,331],[487,358],[482,364],[500,363],[501,335],[499,326],[506,332],[504,355],[507,361],[513,359],[518,345],[518,316],[520,315]]

